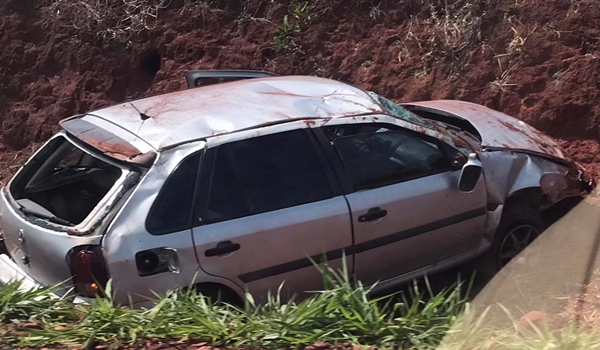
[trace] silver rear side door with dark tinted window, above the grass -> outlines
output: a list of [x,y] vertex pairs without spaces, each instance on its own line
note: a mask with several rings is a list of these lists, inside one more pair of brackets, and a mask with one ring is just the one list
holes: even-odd
[[201,269],[255,297],[282,283],[284,299],[322,288],[313,260],[341,268],[352,245],[348,205],[326,165],[306,129],[209,148],[193,228]]

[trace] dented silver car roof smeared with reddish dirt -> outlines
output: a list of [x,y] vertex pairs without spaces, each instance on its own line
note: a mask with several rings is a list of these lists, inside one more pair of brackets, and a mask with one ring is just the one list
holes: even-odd
[[99,109],[80,118],[102,127],[117,125],[160,150],[261,125],[371,113],[384,111],[358,88],[329,79],[288,76],[178,91]]

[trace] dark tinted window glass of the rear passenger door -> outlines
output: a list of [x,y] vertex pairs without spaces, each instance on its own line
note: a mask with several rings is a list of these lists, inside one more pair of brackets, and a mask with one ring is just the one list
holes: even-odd
[[321,161],[304,130],[219,146],[209,150],[206,164],[198,210],[205,224],[316,202],[332,195]]

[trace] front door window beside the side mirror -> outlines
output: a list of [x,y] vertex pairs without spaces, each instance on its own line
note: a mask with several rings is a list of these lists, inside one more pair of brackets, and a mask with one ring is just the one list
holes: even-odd
[[381,126],[326,128],[355,190],[375,188],[448,170],[434,141]]

